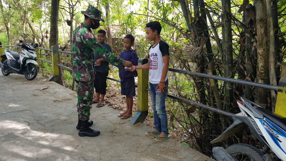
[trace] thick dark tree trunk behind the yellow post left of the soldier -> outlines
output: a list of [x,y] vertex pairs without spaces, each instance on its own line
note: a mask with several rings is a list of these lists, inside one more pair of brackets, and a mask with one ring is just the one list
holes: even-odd
[[[59,41],[59,30],[58,30],[58,22],[59,22],[59,0],[51,0],[51,28],[50,28],[50,39],[49,39],[49,47],[58,46]],[[59,58],[59,61],[61,59]],[[64,75],[63,69],[59,67],[59,79],[57,83],[64,86]]]

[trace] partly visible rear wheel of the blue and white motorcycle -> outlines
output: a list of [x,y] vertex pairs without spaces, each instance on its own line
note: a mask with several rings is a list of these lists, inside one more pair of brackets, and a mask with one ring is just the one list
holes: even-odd
[[265,161],[263,158],[264,153],[248,144],[233,144],[225,148],[225,150],[236,160]]

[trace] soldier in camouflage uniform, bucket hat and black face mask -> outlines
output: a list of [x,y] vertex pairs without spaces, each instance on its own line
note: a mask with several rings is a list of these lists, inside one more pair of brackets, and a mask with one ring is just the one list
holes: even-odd
[[78,126],[76,128],[80,130],[78,133],[79,136],[94,137],[100,134],[99,131],[89,128],[93,122],[88,121],[94,92],[93,53],[99,53],[102,58],[117,67],[121,67],[122,65],[127,67],[132,66],[131,62],[116,57],[96,41],[90,28],[96,29],[100,25],[99,21],[104,21],[101,18],[101,13],[96,7],[88,7],[86,11],[82,11],[82,14],[85,16],[84,23],[74,30],[72,75],[76,82],[78,93]]

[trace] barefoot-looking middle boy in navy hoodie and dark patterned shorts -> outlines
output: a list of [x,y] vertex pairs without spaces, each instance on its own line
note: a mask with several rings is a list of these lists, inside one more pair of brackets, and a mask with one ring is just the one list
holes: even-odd
[[[131,47],[134,45],[134,36],[127,34],[123,40],[124,51],[120,53],[120,58],[131,61],[133,65],[138,65],[138,55]],[[132,116],[133,97],[135,96],[135,80],[137,71],[128,71],[124,66],[119,68],[119,77],[121,85],[121,94],[126,96],[126,111],[122,112],[119,117],[122,119],[130,118]]]

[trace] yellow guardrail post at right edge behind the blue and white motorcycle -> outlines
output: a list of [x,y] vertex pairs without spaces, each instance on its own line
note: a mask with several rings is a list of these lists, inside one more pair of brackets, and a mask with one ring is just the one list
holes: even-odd
[[279,80],[279,89],[282,92],[277,92],[277,100],[275,106],[275,113],[286,117],[286,66],[281,66],[281,78]]

